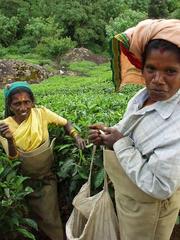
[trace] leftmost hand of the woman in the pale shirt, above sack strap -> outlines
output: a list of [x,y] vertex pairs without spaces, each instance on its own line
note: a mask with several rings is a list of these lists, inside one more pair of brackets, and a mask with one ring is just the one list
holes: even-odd
[[89,140],[95,145],[102,145],[102,138],[100,130],[103,130],[104,124],[93,124],[89,126]]

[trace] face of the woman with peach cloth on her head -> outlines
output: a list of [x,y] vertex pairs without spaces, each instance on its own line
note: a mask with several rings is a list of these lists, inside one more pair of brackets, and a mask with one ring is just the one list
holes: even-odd
[[145,61],[143,76],[151,103],[172,97],[180,88],[178,54],[170,50],[151,50]]

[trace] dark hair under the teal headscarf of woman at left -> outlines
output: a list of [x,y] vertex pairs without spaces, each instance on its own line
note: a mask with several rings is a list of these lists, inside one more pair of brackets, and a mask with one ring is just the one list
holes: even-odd
[[33,103],[35,103],[34,94],[30,89],[28,89],[26,87],[18,87],[16,89],[12,90],[12,92],[9,94],[9,96],[5,99],[5,118],[8,116],[14,115],[13,112],[10,110],[10,105],[12,103],[12,97],[17,93],[24,93],[24,92],[26,92],[29,95],[31,101]]

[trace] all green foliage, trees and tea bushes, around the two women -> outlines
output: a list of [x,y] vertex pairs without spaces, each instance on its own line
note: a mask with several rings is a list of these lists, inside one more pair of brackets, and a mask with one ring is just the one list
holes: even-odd
[[[64,53],[85,47],[108,55],[108,41],[146,18],[180,18],[179,0],[0,0],[0,58],[32,63],[61,63]],[[63,63],[64,64],[64,63]],[[103,122],[112,126],[127,102],[142,86],[128,85],[115,93],[109,64],[71,63],[68,68],[81,76],[54,76],[32,85],[37,105],[44,105],[71,120],[82,137],[88,126]],[[0,118],[3,118],[0,90]],[[56,137],[54,171],[58,177],[61,214],[65,222],[72,199],[87,180],[92,146],[82,152],[62,129],[50,126]],[[19,172],[19,162],[10,162],[0,150],[0,232],[3,240],[35,239],[37,225],[26,217],[26,196],[32,189]],[[92,191],[103,183],[102,151],[94,163]],[[111,191],[111,188],[110,188]],[[113,197],[113,192],[112,197]],[[2,224],[3,222],[3,224]],[[20,235],[19,235],[20,234]]]

